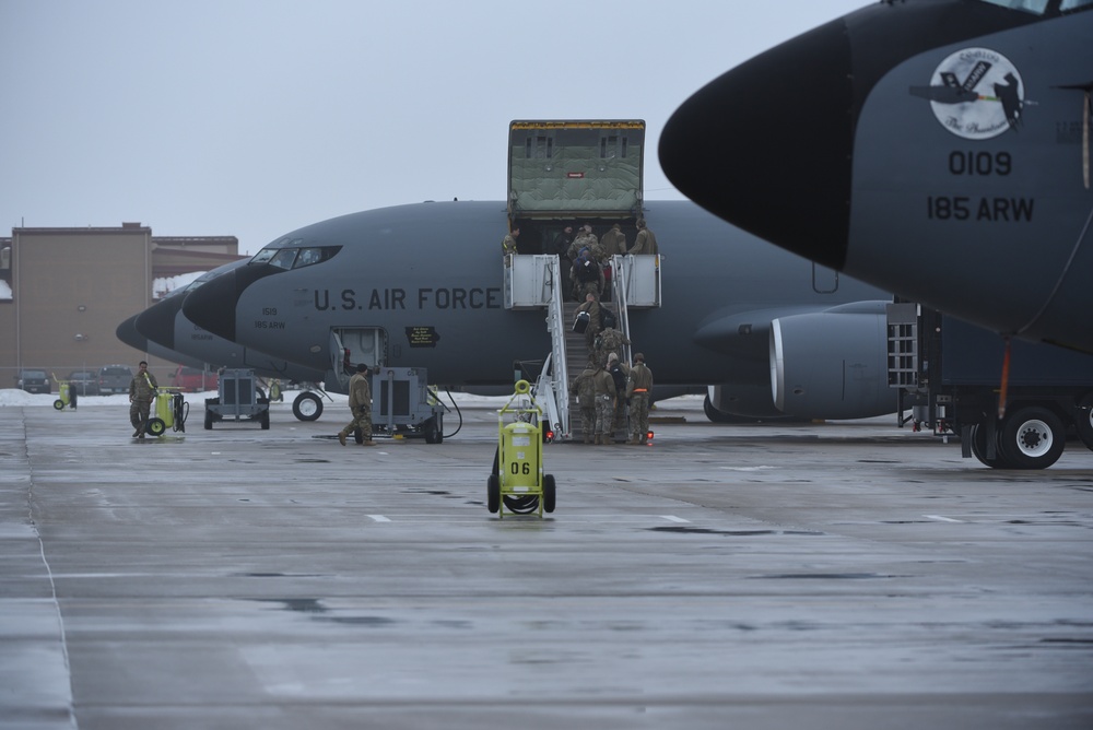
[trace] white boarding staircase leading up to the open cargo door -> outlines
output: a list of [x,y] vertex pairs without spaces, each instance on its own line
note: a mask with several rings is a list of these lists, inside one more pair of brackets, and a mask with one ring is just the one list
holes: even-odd
[[[608,306],[619,320],[616,329],[628,340],[630,310],[660,306],[660,257],[613,256],[611,268]],[[576,403],[569,384],[585,368],[589,356],[584,335],[572,331],[578,306],[577,302],[565,302],[559,257],[505,257],[505,308],[546,310],[551,352],[543,362],[532,396],[543,409],[543,419],[554,432],[555,440],[574,438],[572,414],[576,412]],[[630,362],[630,346],[624,348],[623,356]]]

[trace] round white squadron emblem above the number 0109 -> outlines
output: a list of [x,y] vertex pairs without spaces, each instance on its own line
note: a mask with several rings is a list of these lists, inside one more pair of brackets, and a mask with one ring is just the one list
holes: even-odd
[[941,61],[929,86],[912,86],[928,99],[938,121],[953,134],[988,140],[1021,126],[1024,84],[1008,58],[989,48],[965,48]]

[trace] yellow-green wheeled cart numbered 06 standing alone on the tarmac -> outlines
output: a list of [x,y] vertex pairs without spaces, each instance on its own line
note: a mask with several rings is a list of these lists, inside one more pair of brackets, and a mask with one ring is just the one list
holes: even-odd
[[539,421],[542,409],[530,395],[527,380],[497,411],[497,456],[486,480],[486,506],[504,518],[505,508],[516,515],[554,511],[553,474],[543,474],[543,437]]

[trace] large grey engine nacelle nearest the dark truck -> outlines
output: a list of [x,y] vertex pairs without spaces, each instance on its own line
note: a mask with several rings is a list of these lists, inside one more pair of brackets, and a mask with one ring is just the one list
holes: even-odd
[[885,302],[858,302],[775,319],[774,404],[808,419],[865,419],[896,411],[888,385]]

